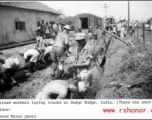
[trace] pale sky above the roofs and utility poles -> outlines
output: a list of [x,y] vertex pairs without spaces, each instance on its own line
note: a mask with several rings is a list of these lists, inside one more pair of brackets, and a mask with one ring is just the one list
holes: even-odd
[[[39,1],[66,16],[91,13],[99,17],[106,15],[103,8],[107,4],[107,15],[116,20],[128,19],[128,1]],[[152,17],[152,1],[130,1],[130,20],[147,20]]]

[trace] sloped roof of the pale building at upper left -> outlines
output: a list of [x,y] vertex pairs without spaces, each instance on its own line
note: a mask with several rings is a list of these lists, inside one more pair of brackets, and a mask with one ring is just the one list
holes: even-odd
[[12,6],[17,8],[29,9],[29,10],[38,10],[44,12],[51,12],[54,14],[61,14],[60,12],[40,3],[40,2],[0,2],[0,5],[3,6]]

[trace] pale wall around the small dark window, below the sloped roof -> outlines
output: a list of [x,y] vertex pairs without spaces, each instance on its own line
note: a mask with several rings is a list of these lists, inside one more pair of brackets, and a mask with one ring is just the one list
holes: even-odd
[[[26,30],[15,30],[15,19],[25,21]],[[36,38],[37,21],[57,21],[58,15],[48,12],[0,6],[0,44]]]

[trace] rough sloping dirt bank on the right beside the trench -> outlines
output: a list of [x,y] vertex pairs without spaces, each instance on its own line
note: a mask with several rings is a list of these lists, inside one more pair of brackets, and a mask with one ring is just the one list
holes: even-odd
[[110,46],[97,99],[152,98],[152,45],[134,39],[134,48],[115,42]]

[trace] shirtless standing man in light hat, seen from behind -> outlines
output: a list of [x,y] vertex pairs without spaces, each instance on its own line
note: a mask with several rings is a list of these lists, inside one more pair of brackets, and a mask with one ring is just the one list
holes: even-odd
[[55,71],[58,69],[58,73],[56,75],[56,78],[60,78],[60,76],[63,73],[63,64],[64,64],[64,54],[65,51],[69,50],[69,31],[70,26],[65,25],[63,32],[58,33],[56,40],[53,44],[52,48],[52,60],[53,60],[53,66],[52,66],[52,73],[51,76],[55,77]]

